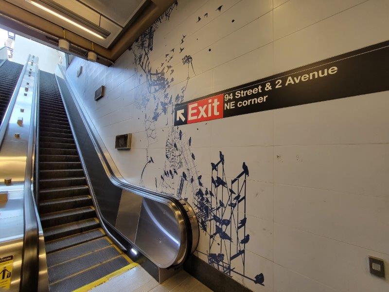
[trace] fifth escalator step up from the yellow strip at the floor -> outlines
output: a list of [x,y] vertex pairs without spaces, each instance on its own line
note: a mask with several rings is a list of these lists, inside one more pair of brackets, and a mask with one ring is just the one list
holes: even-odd
[[96,218],[86,219],[82,221],[72,222],[68,224],[45,228],[43,234],[45,241],[58,239],[61,237],[77,234],[91,229],[99,228],[100,224]]

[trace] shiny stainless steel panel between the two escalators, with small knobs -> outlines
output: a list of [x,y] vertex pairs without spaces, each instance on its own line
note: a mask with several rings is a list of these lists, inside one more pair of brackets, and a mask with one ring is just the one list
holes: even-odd
[[[0,125],[0,191],[8,191],[8,201],[0,202],[0,258],[14,256],[11,285],[8,291],[19,291],[20,268],[23,256],[24,213],[23,188],[26,169],[27,143],[15,141],[9,134],[19,101],[23,100],[20,86],[26,82],[25,72],[30,56],[20,73],[17,85],[10,99],[7,111]],[[28,116],[30,113],[25,112]],[[28,129],[29,122],[25,127]],[[11,177],[11,184],[4,184],[4,178]]]

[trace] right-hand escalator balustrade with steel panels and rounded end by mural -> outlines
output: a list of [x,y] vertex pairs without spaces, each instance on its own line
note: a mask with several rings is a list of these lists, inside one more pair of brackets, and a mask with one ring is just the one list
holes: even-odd
[[[102,221],[115,228],[115,230],[124,236],[134,248],[147,256],[159,268],[168,268],[182,264],[184,259],[195,250],[198,244],[199,230],[193,209],[185,201],[178,201],[177,198],[130,184],[123,180],[117,169],[111,168],[110,163],[112,161],[110,161],[111,158],[104,143],[101,144],[102,148],[100,148],[101,145],[96,140],[98,139],[98,141],[100,141],[101,138],[96,138],[99,136],[96,136],[95,130],[90,126],[90,118],[87,116],[85,109],[82,108],[82,105],[80,105],[75,98],[74,91],[71,89],[71,85],[64,76],[65,74],[62,72],[62,69],[58,67],[56,77],[59,88],[61,90],[60,83],[62,83],[62,86],[66,87],[65,90],[69,91],[70,95],[70,97],[67,97],[67,99],[69,99],[67,101],[64,98],[64,94],[61,92],[65,108],[71,106],[74,114],[81,117],[78,124],[84,124],[84,127],[88,131],[89,139],[93,143],[93,145],[88,148],[88,151],[90,151],[91,148],[95,149],[98,159],[100,160],[99,163],[104,167],[105,175],[108,177],[109,182],[121,190],[127,191],[121,194],[115,222],[109,222],[104,218],[104,214],[100,211],[99,201],[94,200],[96,202],[97,213],[100,214]],[[67,105],[67,103],[69,103],[69,105]],[[67,111],[68,110],[69,109],[67,109]],[[70,124],[72,124],[73,122],[71,121],[69,112],[68,116]],[[77,135],[74,134],[74,136],[76,141],[78,139]],[[84,140],[88,139],[88,137],[85,137],[85,134],[82,134],[81,136]],[[76,144],[78,144],[77,141]],[[82,156],[81,153],[80,156]],[[96,162],[93,162],[92,164],[95,163]],[[87,169],[86,173],[88,173]],[[119,178],[117,176],[119,176]],[[90,180],[88,180],[88,182],[89,181]],[[93,185],[91,185],[91,190],[94,197]],[[101,190],[97,189],[96,191]],[[131,216],[137,217],[135,212],[127,213],[124,211],[126,208],[129,208],[128,203],[132,203],[130,198],[124,198],[124,196],[131,196],[130,194],[142,197],[139,219],[136,222],[129,221]],[[123,204],[125,202],[128,203],[121,206],[122,201]],[[135,209],[137,209],[138,206],[139,201],[136,203]],[[165,211],[165,213],[163,213],[163,211]],[[157,212],[157,214],[154,212]],[[125,226],[125,224],[127,224],[127,226]],[[136,225],[135,240],[131,240],[132,238],[130,238],[134,235],[134,226],[129,227],[130,224]]]

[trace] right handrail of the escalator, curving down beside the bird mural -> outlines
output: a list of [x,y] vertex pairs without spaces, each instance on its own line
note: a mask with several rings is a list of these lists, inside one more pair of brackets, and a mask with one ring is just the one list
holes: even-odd
[[[198,238],[197,238],[197,242],[193,242],[193,234],[192,234],[192,223],[191,223],[191,220],[189,219],[189,216],[188,216],[188,213],[187,213],[187,210],[185,210],[185,207],[184,205],[182,204],[182,202],[180,202],[180,200],[178,200],[177,198],[174,198],[172,196],[169,196],[169,195],[165,195],[165,194],[162,194],[162,193],[158,193],[156,191],[153,191],[153,190],[150,190],[150,189],[146,189],[146,188],[143,188],[141,186],[138,186],[138,185],[135,185],[135,184],[132,184],[132,183],[129,183],[129,182],[124,182],[123,180],[120,180],[114,173],[114,171],[112,170],[110,164],[108,163],[107,159],[106,159],[106,156],[103,152],[103,150],[101,149],[99,143],[97,142],[97,139],[84,115],[84,112],[83,110],[81,109],[80,105],[79,105],[79,102],[77,100],[77,98],[75,98],[75,93],[73,92],[68,80],[66,79],[66,75],[65,75],[65,72],[63,71],[63,69],[58,66],[58,68],[60,69],[62,75],[63,75],[63,79],[65,80],[65,83],[69,89],[69,91],[71,92],[71,96],[72,96],[72,99],[79,111],[79,114],[84,122],[84,125],[88,131],[88,134],[89,134],[89,137],[91,138],[91,141],[92,143],[94,144],[95,146],[95,150],[100,158],[100,161],[106,171],[106,175],[108,176],[109,180],[111,181],[111,183],[113,183],[115,186],[119,187],[119,188],[122,188],[124,190],[127,190],[129,192],[133,192],[137,195],[140,195],[142,197],[145,197],[145,198],[148,198],[148,199],[151,199],[153,201],[159,201],[159,202],[162,202],[162,203],[166,203],[166,202],[172,202],[180,211],[180,214],[182,216],[182,219],[184,221],[184,225],[185,225],[185,233],[186,233],[186,243],[187,243],[187,246],[186,246],[186,249],[185,249],[185,254],[183,256],[183,259],[182,261],[180,262],[180,264],[182,264],[187,258],[188,256],[190,256],[190,254],[194,251],[193,247],[194,247],[194,244],[197,245],[197,242],[198,242]],[[182,200],[183,201],[183,200]],[[100,216],[104,219],[104,221],[109,224],[109,222],[104,218],[104,216],[101,214],[98,206],[97,206],[97,212],[100,213]],[[111,224],[109,224],[112,228],[115,228],[114,226],[112,226]],[[121,234],[121,232],[119,230],[117,230],[115,228],[115,230]],[[180,265],[179,264],[179,265]]]

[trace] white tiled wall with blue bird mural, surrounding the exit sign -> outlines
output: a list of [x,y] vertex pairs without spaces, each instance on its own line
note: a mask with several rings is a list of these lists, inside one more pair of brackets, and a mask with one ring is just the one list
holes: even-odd
[[[123,177],[194,205],[206,221],[196,255],[253,291],[389,291],[387,91],[172,127],[176,103],[388,40],[389,1],[178,0],[152,31],[110,68],[75,58],[66,73]],[[156,91],[147,78],[162,70]],[[130,151],[114,149],[123,133]],[[224,174],[211,166],[221,155]]]

